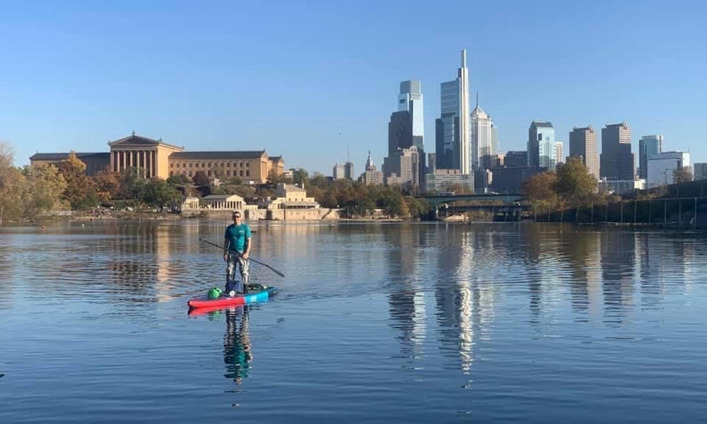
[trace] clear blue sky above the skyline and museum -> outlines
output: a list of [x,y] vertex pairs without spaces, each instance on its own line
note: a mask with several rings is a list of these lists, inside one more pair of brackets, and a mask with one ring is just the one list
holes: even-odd
[[703,2],[281,1],[0,4],[0,140],[107,151],[138,134],[188,150],[257,150],[327,175],[380,166],[399,81],[421,79],[434,151],[439,84],[469,51],[472,98],[524,150],[532,119],[626,120],[633,146],[706,161]]

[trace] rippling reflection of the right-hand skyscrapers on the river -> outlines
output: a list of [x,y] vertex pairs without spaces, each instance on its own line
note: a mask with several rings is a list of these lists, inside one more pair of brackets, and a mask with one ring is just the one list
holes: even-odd
[[[650,245],[654,239],[660,248]],[[385,240],[392,245],[388,302],[401,353],[424,354],[421,335],[436,332],[439,350],[457,358],[464,373],[472,367],[477,344],[491,337],[498,296],[520,290],[519,283],[527,288],[530,324],[550,325],[566,303],[578,322],[620,325],[637,306],[637,296],[642,307],[664,301],[666,278],[672,294],[684,291],[684,258],[694,256],[663,234],[571,225],[521,225],[510,231],[493,225],[420,225],[386,234]],[[425,307],[432,306],[425,298],[429,290],[432,310]],[[433,317],[437,328],[430,328]]]

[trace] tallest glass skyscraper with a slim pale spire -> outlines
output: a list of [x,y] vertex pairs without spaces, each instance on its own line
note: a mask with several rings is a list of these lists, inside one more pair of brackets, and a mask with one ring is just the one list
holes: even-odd
[[457,79],[441,84],[441,117],[436,119],[436,153],[438,169],[458,169],[468,174],[469,154],[469,71],[467,50],[462,50],[462,66]]

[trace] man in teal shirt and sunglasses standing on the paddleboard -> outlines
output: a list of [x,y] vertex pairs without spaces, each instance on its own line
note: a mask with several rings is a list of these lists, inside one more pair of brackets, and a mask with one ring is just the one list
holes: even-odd
[[[245,293],[248,287],[250,261],[250,227],[242,221],[240,211],[233,212],[233,224],[226,228],[223,240],[223,260],[226,261],[226,293]],[[238,253],[235,253],[238,252]],[[234,281],[235,269],[240,269],[240,281]]]

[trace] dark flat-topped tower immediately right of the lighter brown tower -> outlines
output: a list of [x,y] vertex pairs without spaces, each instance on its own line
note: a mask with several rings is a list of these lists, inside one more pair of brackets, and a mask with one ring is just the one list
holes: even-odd
[[626,121],[602,128],[600,176],[609,180],[631,180],[636,176],[636,154],[631,153],[631,128]]

